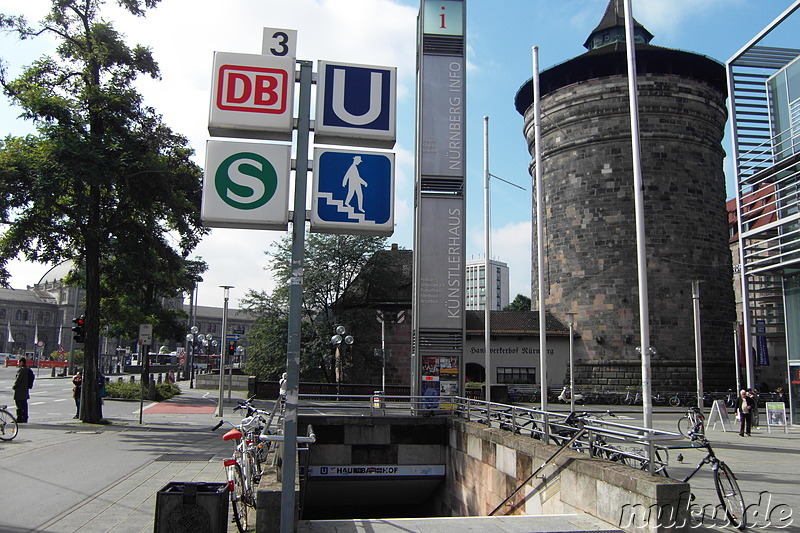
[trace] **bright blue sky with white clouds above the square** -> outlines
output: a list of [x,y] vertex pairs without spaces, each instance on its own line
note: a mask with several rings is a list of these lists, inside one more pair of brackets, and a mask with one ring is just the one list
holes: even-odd
[[[688,50],[722,63],[785,11],[791,0],[632,0],[634,17],[655,37],[651,44]],[[0,0],[0,13],[40,20],[50,0]],[[484,257],[483,117],[489,117],[489,171],[525,191],[491,180],[491,256],[508,263],[510,298],[530,296],[531,159],[514,108],[517,90],[532,75],[533,46],[545,70],[585,52],[583,42],[608,0],[466,0],[467,5],[467,259]],[[416,17],[419,0],[161,0],[146,18],[115,2],[103,15],[130,45],[152,49],[161,79],[137,86],[147,105],[183,134],[205,161],[214,51],[257,54],[262,29],[297,30],[297,58],[397,67],[395,233],[390,243],[413,248]],[[796,19],[794,19],[796,20]],[[797,34],[797,32],[794,32]],[[43,54],[48,37],[19,41],[0,33],[0,58],[13,77]],[[0,96],[0,136],[33,133],[20,109]],[[731,153],[726,139],[725,150]],[[728,196],[733,174],[726,160]],[[271,291],[265,251],[285,232],[213,229],[191,257],[208,263],[200,305],[222,306],[221,285],[233,285],[232,307],[248,290]],[[9,264],[14,288],[36,283],[44,265]]]

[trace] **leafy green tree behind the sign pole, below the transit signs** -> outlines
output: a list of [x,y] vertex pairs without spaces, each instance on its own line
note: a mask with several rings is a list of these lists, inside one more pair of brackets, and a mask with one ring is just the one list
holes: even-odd
[[[309,234],[303,265],[303,323],[300,376],[304,380],[333,381],[330,365],[334,303],[356,278],[367,260],[386,246],[383,237]],[[286,340],[291,281],[290,237],[272,252],[267,267],[277,282],[271,295],[250,291],[243,307],[259,318],[250,330],[249,372],[260,379],[277,379],[286,367]]]

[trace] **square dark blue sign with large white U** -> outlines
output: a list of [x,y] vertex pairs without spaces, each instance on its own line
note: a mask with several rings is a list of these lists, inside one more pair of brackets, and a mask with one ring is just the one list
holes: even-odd
[[317,75],[315,142],[394,146],[396,68],[320,61]]

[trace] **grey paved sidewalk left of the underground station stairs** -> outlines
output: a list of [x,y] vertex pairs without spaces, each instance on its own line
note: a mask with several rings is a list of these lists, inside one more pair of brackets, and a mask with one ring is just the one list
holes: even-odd
[[[181,395],[161,403],[145,402],[141,425],[138,402],[126,402],[130,408],[124,409],[135,415],[106,416],[110,425],[83,424],[66,416],[41,422],[32,418],[32,423],[20,425],[17,438],[3,443],[10,446],[0,446],[0,459],[5,459],[0,465],[3,477],[19,476],[21,482],[13,480],[20,483],[17,489],[30,505],[16,509],[4,505],[0,531],[152,532],[156,494],[167,484],[224,483],[223,460],[231,456],[233,446],[222,440],[224,428],[211,432],[220,420],[214,416],[216,394],[189,389],[188,382],[179,385]],[[233,392],[232,403],[225,404],[225,419],[240,419],[232,414],[232,407],[243,397]],[[119,404],[113,404],[118,402],[107,400],[105,410],[120,411]],[[79,484],[70,481],[75,471],[97,479],[80,485],[94,488],[76,488]],[[64,501],[73,503],[49,519],[44,513],[50,508],[42,511],[43,504],[58,509]],[[233,520],[230,510],[228,517]],[[228,531],[237,531],[235,523],[230,522]]]

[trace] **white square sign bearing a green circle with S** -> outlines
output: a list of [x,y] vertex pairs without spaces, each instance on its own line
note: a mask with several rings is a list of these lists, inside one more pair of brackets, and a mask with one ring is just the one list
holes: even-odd
[[286,229],[291,146],[208,141],[203,224],[216,228]]

